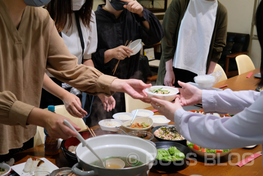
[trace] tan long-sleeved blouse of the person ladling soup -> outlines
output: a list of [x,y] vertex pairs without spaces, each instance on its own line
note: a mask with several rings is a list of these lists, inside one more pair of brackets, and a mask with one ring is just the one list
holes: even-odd
[[0,0],[0,31],[0,155],[22,147],[36,133],[26,121],[39,107],[45,69],[86,93],[114,93],[115,77],[78,65],[45,9],[27,6],[17,30]]

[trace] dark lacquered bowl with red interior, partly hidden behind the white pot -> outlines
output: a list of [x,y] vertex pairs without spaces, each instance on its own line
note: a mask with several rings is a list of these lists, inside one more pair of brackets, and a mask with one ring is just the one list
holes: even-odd
[[[109,135],[109,134],[118,134],[117,132],[113,132],[113,131],[94,131],[96,136],[101,136],[101,135]],[[82,131],[79,132],[80,135],[84,138],[84,139],[89,139],[90,137],[92,137],[92,135],[90,134],[89,131]],[[69,146],[77,146],[80,143],[80,141],[77,139],[77,137],[70,137],[66,140],[63,140],[61,142],[61,148],[63,151],[63,154],[65,156],[65,158],[72,164],[75,164],[78,162],[76,154],[68,151]]]

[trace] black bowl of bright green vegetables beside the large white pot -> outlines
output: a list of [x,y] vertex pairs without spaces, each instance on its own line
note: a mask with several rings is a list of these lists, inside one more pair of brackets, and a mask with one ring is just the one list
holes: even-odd
[[[187,167],[191,150],[176,142],[155,142],[158,154],[154,167],[162,171],[178,171]],[[156,161],[155,161],[156,162]]]

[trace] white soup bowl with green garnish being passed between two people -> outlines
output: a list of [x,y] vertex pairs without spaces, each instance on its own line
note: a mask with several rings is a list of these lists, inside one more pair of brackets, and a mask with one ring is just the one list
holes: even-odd
[[171,102],[174,100],[176,94],[179,93],[179,90],[174,87],[156,85],[146,88],[145,92],[148,94],[148,97],[154,97]]

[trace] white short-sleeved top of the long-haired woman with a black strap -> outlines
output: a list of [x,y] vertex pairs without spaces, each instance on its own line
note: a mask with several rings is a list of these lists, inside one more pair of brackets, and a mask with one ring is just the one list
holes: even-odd
[[[84,24],[82,23],[81,19],[79,18],[80,22],[80,27],[82,31],[82,36],[84,40],[84,59],[90,59],[91,54],[95,53],[97,50],[97,44],[98,44],[98,38],[97,38],[97,26],[96,26],[96,18],[95,18],[95,13],[92,11],[91,13],[91,22],[89,23],[89,28],[85,27]],[[69,51],[71,54],[74,56],[77,56],[78,58],[78,64],[81,64],[82,61],[82,47],[80,44],[80,38],[79,38],[79,32],[78,32],[78,27],[76,23],[76,17],[75,14],[73,13],[72,16],[72,31],[71,28],[67,32],[67,26],[68,22],[65,26],[65,28],[62,30],[62,39],[64,40],[65,45],[68,47]],[[66,33],[67,32],[67,33]],[[48,74],[49,77],[54,77],[48,71],[46,70],[46,73]]]

